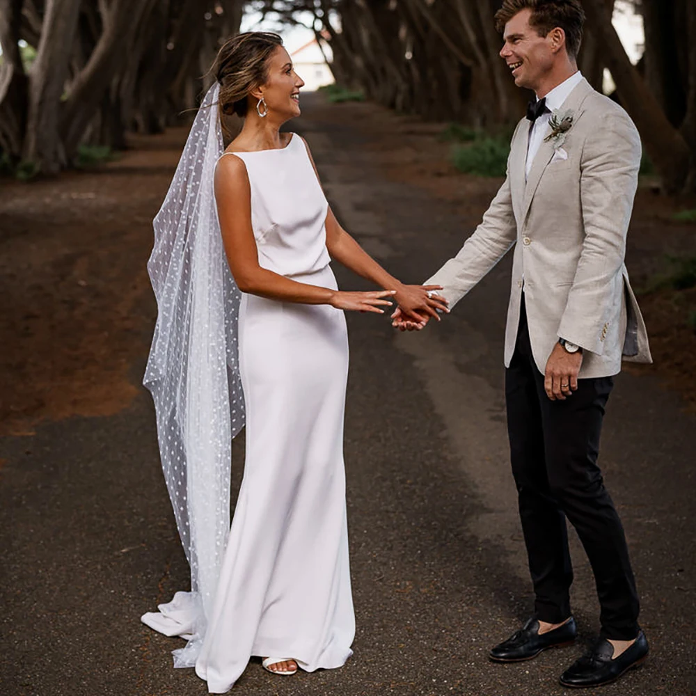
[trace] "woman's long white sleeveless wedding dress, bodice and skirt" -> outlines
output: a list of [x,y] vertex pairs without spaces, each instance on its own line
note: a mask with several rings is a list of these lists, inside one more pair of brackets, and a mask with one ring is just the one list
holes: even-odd
[[[336,288],[328,204],[306,146],[239,152],[251,183],[259,263]],[[251,656],[340,667],[355,633],[348,562],[342,311],[244,294],[239,366],[246,403],[244,479],[196,674],[225,693]]]

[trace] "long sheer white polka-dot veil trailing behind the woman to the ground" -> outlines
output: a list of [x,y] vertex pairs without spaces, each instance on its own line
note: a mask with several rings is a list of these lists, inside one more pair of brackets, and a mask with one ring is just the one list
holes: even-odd
[[148,273],[157,324],[143,383],[152,393],[162,469],[191,591],[142,621],[189,642],[175,667],[196,663],[230,530],[232,438],[244,426],[237,315],[241,295],[220,234],[214,172],[223,152],[219,85],[205,95],[155,217]]

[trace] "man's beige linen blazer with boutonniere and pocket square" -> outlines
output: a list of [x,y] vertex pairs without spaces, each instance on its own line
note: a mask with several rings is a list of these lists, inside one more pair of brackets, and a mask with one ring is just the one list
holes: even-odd
[[608,377],[621,370],[622,356],[651,362],[624,265],[640,136],[628,114],[585,79],[560,111],[573,113],[562,152],[553,141],[542,143],[525,182],[530,122],[521,120],[503,187],[457,256],[426,283],[442,285],[452,308],[514,245],[505,366],[514,353],[524,290],[539,371],[565,338],[583,347],[580,378]]

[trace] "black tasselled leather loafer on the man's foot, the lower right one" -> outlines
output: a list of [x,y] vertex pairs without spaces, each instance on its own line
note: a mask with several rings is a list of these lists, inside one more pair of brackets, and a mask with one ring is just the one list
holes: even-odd
[[563,686],[583,688],[602,686],[616,681],[628,670],[640,667],[648,657],[648,642],[640,631],[635,643],[628,650],[612,660],[614,647],[608,640],[599,640],[592,650],[583,655],[561,675]]

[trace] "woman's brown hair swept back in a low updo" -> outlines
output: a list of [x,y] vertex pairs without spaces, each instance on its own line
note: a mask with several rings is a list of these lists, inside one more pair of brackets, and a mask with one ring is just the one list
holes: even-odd
[[268,60],[283,39],[267,31],[248,31],[232,37],[220,49],[213,73],[220,83],[220,113],[246,116],[248,94],[267,81]]

